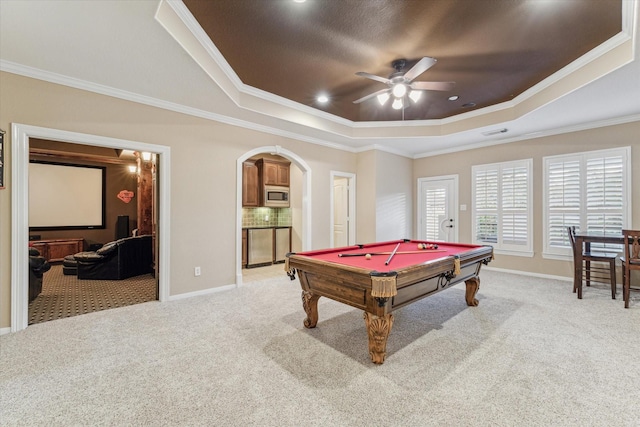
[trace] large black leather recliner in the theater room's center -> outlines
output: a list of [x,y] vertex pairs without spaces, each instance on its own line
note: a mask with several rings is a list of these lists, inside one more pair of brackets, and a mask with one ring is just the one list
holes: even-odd
[[151,236],[126,237],[106,243],[95,252],[80,252],[78,279],[121,280],[153,270]]

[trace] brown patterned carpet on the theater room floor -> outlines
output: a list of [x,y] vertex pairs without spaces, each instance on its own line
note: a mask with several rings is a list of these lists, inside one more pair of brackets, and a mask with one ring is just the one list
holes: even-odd
[[156,300],[158,285],[151,274],[125,280],[78,280],[52,265],[44,274],[42,293],[29,303],[29,324],[77,316]]

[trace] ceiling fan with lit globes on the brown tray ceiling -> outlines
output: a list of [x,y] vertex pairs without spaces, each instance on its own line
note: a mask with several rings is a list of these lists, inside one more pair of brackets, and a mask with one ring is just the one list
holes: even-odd
[[414,82],[420,74],[427,71],[429,68],[433,67],[433,65],[437,62],[435,58],[431,58],[429,56],[425,56],[420,61],[416,63],[409,71],[403,72],[405,65],[407,64],[406,59],[396,59],[391,63],[391,66],[396,70],[388,79],[384,77],[379,77],[374,74],[369,74],[364,71],[357,72],[356,75],[360,77],[365,77],[367,79],[375,80],[380,83],[384,83],[389,86],[387,89],[382,89],[377,92],[371,93],[367,96],[364,96],[360,99],[353,101],[354,104],[359,104],[368,99],[373,98],[374,96],[378,98],[378,102],[381,105],[384,105],[391,95],[394,97],[394,101],[392,107],[396,110],[399,110],[405,106],[405,96],[408,95],[409,98],[413,102],[418,102],[420,96],[422,95],[422,91],[425,90],[451,90],[455,85],[454,82]]

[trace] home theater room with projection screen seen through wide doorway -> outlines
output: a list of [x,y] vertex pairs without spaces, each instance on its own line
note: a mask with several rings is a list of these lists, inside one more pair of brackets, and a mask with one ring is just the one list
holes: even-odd
[[30,140],[30,325],[157,299],[155,168],[152,153]]

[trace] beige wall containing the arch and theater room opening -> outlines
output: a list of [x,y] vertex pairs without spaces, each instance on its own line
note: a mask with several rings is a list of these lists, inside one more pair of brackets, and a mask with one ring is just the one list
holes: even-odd
[[[329,172],[356,173],[353,153],[9,73],[0,74],[0,112],[0,128],[7,132],[7,189],[0,190],[0,328],[10,326],[11,123],[171,147],[170,295],[235,283],[236,163],[248,151],[279,145],[309,165],[315,248],[329,246]],[[293,177],[294,191],[301,191],[301,174]],[[300,231],[294,247],[300,245]],[[194,266],[202,267],[200,277],[194,277]]]

